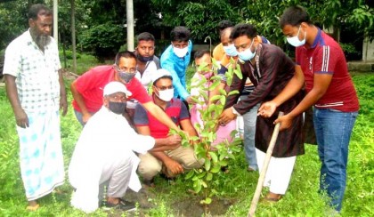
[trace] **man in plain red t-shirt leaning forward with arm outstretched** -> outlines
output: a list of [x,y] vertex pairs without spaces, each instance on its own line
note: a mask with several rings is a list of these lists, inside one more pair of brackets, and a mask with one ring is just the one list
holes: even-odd
[[85,125],[92,115],[102,106],[102,90],[110,81],[120,81],[133,92],[130,99],[138,100],[150,114],[167,125],[177,129],[174,122],[167,117],[162,109],[156,106],[142,84],[136,79],[136,56],[133,52],[118,52],[116,63],[111,66],[91,68],[84,75],[79,76],[70,88],[73,94],[73,107],[77,120]]

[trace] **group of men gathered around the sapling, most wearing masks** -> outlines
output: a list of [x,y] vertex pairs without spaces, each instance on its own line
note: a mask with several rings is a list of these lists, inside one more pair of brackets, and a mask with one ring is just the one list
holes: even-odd
[[[6,49],[4,77],[20,137],[28,210],[37,210],[37,199],[64,181],[59,109],[64,116],[68,104],[57,44],[50,36],[52,12],[34,4],[28,24],[29,29]],[[221,44],[213,52],[221,65],[222,84],[209,95],[219,88],[240,94],[227,97],[217,133],[227,135],[235,128],[235,119],[242,118],[248,171],[256,171],[262,169],[274,124],[281,124],[264,182],[270,190],[264,199],[276,202],[288,189],[296,156],[305,152],[303,112],[313,107],[320,190],[340,212],[348,144],[359,109],[341,48],[300,6],[289,7],[280,17],[283,34],[297,47],[296,62],[258,36],[254,26],[222,24]],[[180,136],[168,135],[170,129],[198,135],[189,112],[196,94],[188,92],[185,79],[191,33],[185,27],[174,28],[160,60],[154,44],[150,33],[139,34],[134,52],[118,52],[113,65],[91,68],[70,86],[74,112],[84,126],[69,164],[71,204],[86,213],[101,205],[134,208],[122,198],[127,188],[141,188],[136,172],[152,185],[158,173],[171,178],[203,164],[192,143],[182,147]],[[196,52],[195,61],[211,66],[210,53]],[[242,78],[233,76],[231,85],[224,75],[229,68],[242,73]],[[213,76],[212,69],[196,76]],[[199,113],[192,111],[193,107],[192,122],[199,122]],[[285,116],[278,117],[280,111]]]

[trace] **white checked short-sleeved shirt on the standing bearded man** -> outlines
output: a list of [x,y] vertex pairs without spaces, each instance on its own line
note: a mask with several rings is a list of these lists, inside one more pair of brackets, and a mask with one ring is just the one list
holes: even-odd
[[42,52],[29,29],[12,41],[5,50],[4,74],[16,77],[22,109],[45,111],[59,109],[61,68],[57,43],[51,38]]

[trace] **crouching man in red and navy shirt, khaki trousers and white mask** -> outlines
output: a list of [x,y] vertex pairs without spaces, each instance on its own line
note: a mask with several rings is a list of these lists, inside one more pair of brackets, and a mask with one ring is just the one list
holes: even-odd
[[[164,109],[168,117],[175,121],[175,125],[180,125],[183,131],[190,136],[197,136],[197,133],[191,125],[188,110],[182,100],[173,98],[174,87],[173,78],[166,69],[159,69],[157,74],[152,77],[152,99],[156,105]],[[156,141],[167,144],[166,138],[169,129],[166,125],[160,123],[142,107],[138,105],[135,109],[134,123],[138,133],[150,135]],[[185,170],[199,168],[201,163],[196,158],[192,147],[179,147],[175,150],[155,151],[152,150],[139,156],[141,163],[138,172],[144,178],[144,183],[152,185],[153,177],[164,173],[167,177],[175,177]]]

